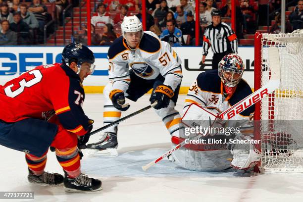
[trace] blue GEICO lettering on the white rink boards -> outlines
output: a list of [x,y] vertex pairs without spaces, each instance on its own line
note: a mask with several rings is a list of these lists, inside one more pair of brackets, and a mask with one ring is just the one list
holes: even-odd
[[[107,53],[103,52],[97,52],[94,53],[96,59],[104,59],[107,58]],[[55,57],[53,57],[55,56]],[[9,62],[1,62],[0,63],[0,75],[13,75],[16,73],[23,73],[28,71],[26,67],[36,67],[42,64],[52,64],[55,62],[60,63],[62,61],[62,55],[61,53],[52,53],[52,52],[44,52],[44,53],[12,53],[12,52],[0,52],[0,61],[3,61],[1,58],[7,58]],[[31,58],[31,59],[29,59]],[[53,61],[54,58],[54,61]],[[28,61],[28,60],[31,61]],[[37,59],[35,61],[35,59]],[[42,62],[46,61],[46,63]],[[96,62],[97,63],[97,62]],[[102,63],[104,65],[104,63]],[[100,68],[100,66],[97,63],[97,66]],[[101,68],[106,70],[95,70],[94,74],[95,76],[107,76],[108,70],[107,66]],[[5,69],[5,70],[3,70]]]

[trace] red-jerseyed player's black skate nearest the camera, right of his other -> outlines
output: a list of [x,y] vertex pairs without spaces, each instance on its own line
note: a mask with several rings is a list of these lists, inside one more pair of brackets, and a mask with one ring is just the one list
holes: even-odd
[[102,189],[101,185],[100,180],[90,178],[82,173],[76,178],[68,178],[65,173],[65,192],[96,192]]

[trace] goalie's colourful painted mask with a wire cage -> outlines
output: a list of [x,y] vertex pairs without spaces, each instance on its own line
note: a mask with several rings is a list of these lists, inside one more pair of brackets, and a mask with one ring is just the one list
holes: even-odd
[[235,87],[240,82],[245,65],[237,54],[227,54],[218,65],[218,74],[225,86]]

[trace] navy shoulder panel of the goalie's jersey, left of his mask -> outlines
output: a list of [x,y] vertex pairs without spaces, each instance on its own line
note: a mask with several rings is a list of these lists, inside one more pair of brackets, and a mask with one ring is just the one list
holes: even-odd
[[197,84],[202,91],[221,93],[221,79],[218,70],[208,70],[200,73],[197,77]]

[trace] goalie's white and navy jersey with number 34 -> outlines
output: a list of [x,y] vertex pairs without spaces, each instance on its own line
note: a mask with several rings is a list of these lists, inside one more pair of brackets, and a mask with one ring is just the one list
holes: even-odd
[[[205,71],[198,75],[197,80],[190,87],[183,112],[187,110],[191,103],[198,103],[208,109],[216,110],[217,113],[221,113],[252,93],[250,86],[241,79],[234,93],[225,98],[223,95],[223,83],[218,76],[218,70]],[[253,112],[254,106],[251,106],[234,116],[232,120],[249,120],[253,117]]]

